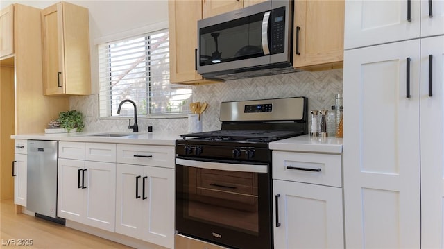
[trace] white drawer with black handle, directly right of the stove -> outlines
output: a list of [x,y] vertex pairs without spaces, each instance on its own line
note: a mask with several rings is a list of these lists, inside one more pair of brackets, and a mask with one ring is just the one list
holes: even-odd
[[341,155],[273,151],[273,179],[342,187]]

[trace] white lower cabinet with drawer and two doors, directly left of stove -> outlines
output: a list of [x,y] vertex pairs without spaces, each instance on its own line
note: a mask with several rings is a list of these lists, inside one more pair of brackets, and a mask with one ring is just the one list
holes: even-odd
[[174,147],[118,145],[117,153],[139,165],[117,164],[116,232],[174,248]]

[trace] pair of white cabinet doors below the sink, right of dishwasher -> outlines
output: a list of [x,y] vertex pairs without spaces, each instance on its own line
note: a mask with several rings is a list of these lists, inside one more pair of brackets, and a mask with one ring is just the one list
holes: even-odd
[[58,216],[114,232],[116,164],[58,160]]

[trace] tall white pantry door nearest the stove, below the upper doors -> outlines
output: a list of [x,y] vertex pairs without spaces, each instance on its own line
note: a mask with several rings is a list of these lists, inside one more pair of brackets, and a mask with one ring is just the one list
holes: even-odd
[[345,51],[348,248],[420,247],[419,48],[410,40]]

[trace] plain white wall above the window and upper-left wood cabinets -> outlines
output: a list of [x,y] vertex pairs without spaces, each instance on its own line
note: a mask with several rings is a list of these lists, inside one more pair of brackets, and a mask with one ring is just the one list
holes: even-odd
[[[12,3],[20,3],[35,8],[46,8],[59,1],[1,0],[0,9]],[[92,92],[99,92],[96,42],[110,38],[121,38],[133,30],[144,29],[153,24],[168,23],[167,0],[139,1],[69,1],[89,9],[89,38],[91,44]]]

